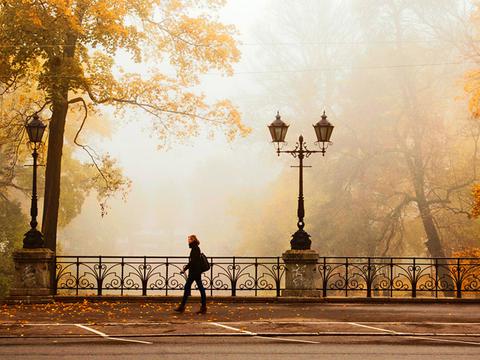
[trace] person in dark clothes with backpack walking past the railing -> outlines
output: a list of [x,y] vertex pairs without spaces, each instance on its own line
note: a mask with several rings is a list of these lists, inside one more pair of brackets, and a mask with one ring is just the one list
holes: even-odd
[[202,284],[202,253],[199,245],[200,241],[198,241],[195,235],[190,235],[188,237],[188,246],[192,250],[190,251],[188,264],[185,265],[183,270],[180,272],[180,274],[183,274],[188,270],[188,277],[187,282],[185,283],[185,291],[183,293],[182,302],[175,309],[176,312],[182,313],[185,311],[185,304],[187,303],[187,299],[191,294],[191,288],[194,281],[197,283],[197,287],[202,298],[202,306],[200,307],[200,310],[197,311],[197,314],[205,314],[207,312],[207,295],[205,294],[205,288]]

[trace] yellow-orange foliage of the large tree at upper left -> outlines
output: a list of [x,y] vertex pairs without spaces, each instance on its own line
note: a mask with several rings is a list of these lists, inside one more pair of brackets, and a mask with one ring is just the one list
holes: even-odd
[[[153,116],[159,138],[196,135],[200,120],[225,126],[229,139],[248,133],[230,102],[210,105],[203,94],[192,91],[200,74],[209,70],[231,74],[232,64],[240,58],[235,28],[215,21],[215,10],[223,0],[10,0],[9,4],[0,10],[4,25],[0,42],[15,39],[27,51],[10,57],[12,64],[2,65],[1,70],[12,71],[13,63],[23,67],[25,76],[38,79],[46,100],[68,87],[75,96],[90,97],[89,106],[140,108]],[[96,51],[88,50],[92,48]],[[3,51],[11,55],[17,50],[14,46]],[[145,73],[151,76],[122,75],[116,57],[120,50],[136,62],[156,60],[157,66],[146,64]],[[39,55],[44,60],[38,62]],[[162,59],[169,59],[170,65]],[[176,76],[164,75],[159,69],[165,66]]]

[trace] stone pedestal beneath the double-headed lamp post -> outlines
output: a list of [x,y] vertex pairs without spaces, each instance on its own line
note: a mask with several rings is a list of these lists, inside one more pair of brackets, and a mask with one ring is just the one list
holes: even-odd
[[285,290],[282,296],[319,297],[316,290],[318,253],[315,250],[287,250],[282,254],[285,263]]

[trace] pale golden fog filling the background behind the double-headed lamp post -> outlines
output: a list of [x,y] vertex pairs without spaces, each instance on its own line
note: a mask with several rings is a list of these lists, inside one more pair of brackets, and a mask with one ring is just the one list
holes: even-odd
[[312,124],[323,110],[335,125],[326,155],[305,169],[305,230],[322,255],[434,254],[422,194],[445,255],[480,246],[466,215],[478,162],[464,92],[478,67],[473,9],[462,0],[227,1],[220,19],[237,27],[242,59],[232,77],[205,74],[201,90],[231,99],[252,132],[228,142],[205,131],[158,148],[147,115],[105,109],[111,134],[89,142],[118,160],[131,191],[103,217],[90,194],[59,229],[60,252],[183,255],[194,233],[209,256],[280,255],[296,230],[298,160],[271,144],[277,110],[290,124],[286,148],[303,134],[317,149]]

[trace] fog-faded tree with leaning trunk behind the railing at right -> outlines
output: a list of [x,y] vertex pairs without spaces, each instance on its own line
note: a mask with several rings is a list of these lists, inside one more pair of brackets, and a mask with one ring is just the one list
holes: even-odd
[[[405,225],[417,223],[424,234],[417,236],[424,236],[428,254],[445,257],[450,237],[445,224],[454,219],[468,223],[465,195],[477,178],[479,130],[455,99],[459,90],[455,76],[462,69],[452,69],[459,52],[446,45],[459,39],[439,36],[444,26],[462,28],[458,19],[465,13],[462,6],[448,0],[421,4],[392,1],[376,7],[375,23],[370,10],[366,4],[358,5],[358,13],[368,19],[368,25],[361,23],[365,36],[388,45],[367,47],[359,68],[368,68],[378,59],[392,65],[378,69],[375,79],[359,71],[353,82],[347,83],[349,89],[357,89],[354,100],[345,102],[348,117],[359,113],[359,104],[372,99],[373,89],[377,96],[382,94],[374,107],[365,106],[361,111],[368,122],[375,118],[378,122],[371,122],[373,127],[362,122],[364,128],[357,128],[355,141],[370,134],[370,144],[362,145],[358,180],[363,186],[359,184],[355,193],[361,194],[362,187],[368,189],[380,205],[380,212],[372,218],[380,235],[376,253],[391,253],[391,246],[401,244]],[[425,65],[415,66],[419,54],[423,54]],[[439,58],[441,63],[436,61]],[[444,79],[441,83],[440,78]],[[369,90],[365,91],[367,81]],[[377,161],[382,167],[375,167],[372,177],[371,163]],[[423,244],[418,245],[421,248]]]

